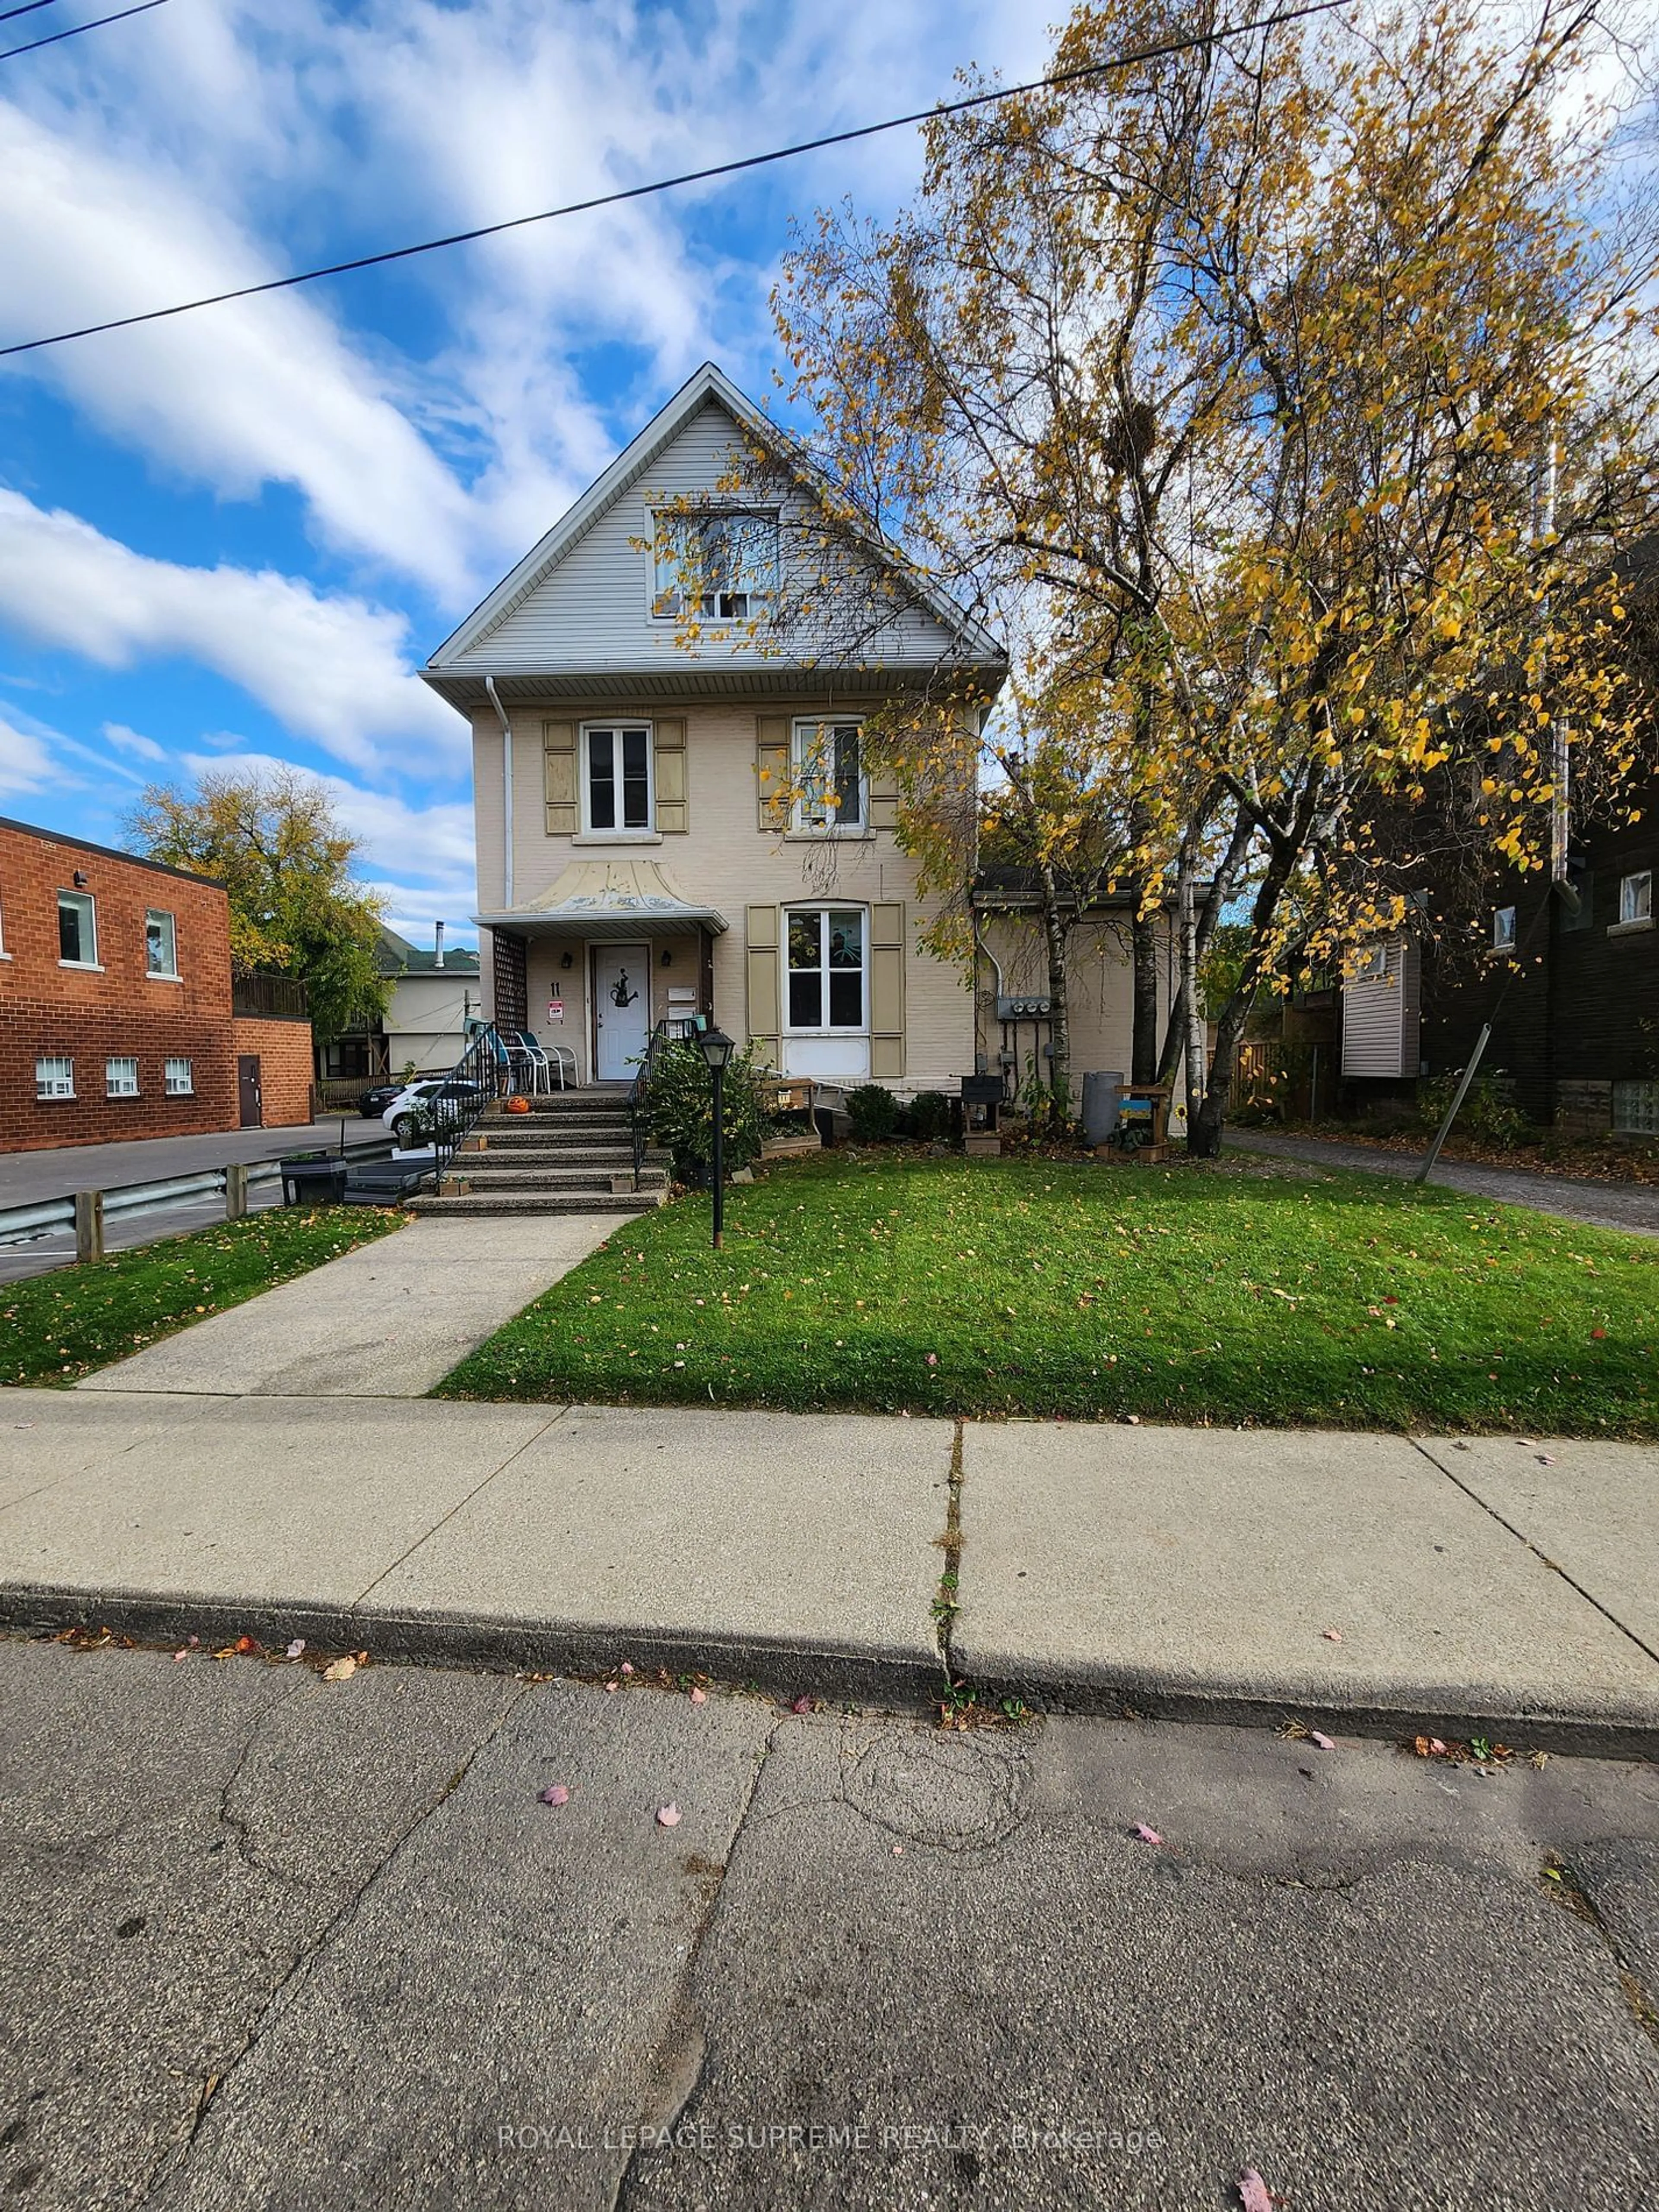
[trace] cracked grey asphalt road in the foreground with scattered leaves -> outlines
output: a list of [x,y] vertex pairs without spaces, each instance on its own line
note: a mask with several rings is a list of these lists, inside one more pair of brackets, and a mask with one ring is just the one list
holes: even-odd
[[0,1712],[33,2212],[1659,2197],[1650,1767],[24,1641]]

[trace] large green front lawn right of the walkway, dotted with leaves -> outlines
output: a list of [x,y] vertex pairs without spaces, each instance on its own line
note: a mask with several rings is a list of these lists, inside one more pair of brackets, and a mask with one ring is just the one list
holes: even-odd
[[1659,1433],[1659,1241],[1369,1175],[825,1155],[628,1221],[440,1385]]

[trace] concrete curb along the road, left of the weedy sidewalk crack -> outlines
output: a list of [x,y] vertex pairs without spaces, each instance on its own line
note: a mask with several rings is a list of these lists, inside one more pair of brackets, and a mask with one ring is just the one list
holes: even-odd
[[752,1686],[779,1699],[810,1694],[896,1712],[927,1710],[945,1690],[942,1666],[918,1666],[909,1652],[268,1597],[241,1601],[0,1584],[0,1632],[60,1635],[64,1628],[111,1628],[157,1646],[177,1646],[192,1635],[204,1644],[254,1637],[263,1646],[305,1637],[316,1650],[367,1650],[372,1659],[405,1666],[513,1674],[611,1674],[628,1659],[639,1672],[666,1668],[670,1674]]

